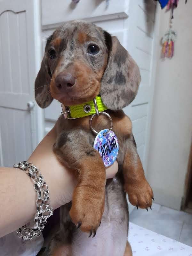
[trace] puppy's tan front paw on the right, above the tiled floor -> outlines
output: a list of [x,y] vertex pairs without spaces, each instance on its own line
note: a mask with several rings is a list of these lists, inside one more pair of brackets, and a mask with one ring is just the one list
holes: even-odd
[[[147,180],[143,180],[138,183],[129,183],[125,184],[125,191],[129,196],[129,202],[132,205],[136,205],[142,209],[148,211],[148,207],[151,209],[152,199],[153,199],[153,190],[148,184]],[[153,199],[154,200],[154,199]]]

